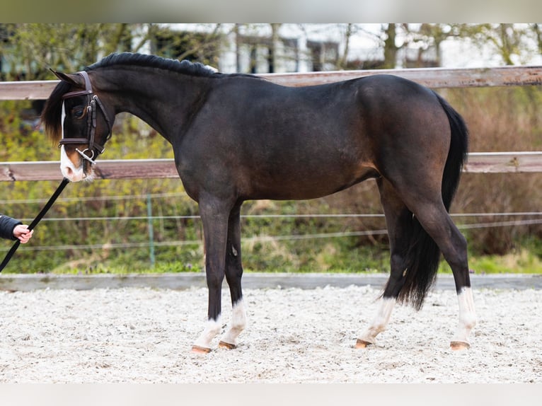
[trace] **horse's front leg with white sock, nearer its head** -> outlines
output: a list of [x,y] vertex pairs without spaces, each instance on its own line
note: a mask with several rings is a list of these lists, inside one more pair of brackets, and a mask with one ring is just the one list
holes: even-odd
[[221,330],[221,295],[226,262],[229,209],[224,208],[223,203],[214,200],[200,201],[200,215],[203,223],[209,307],[207,324],[200,337],[194,342],[192,352],[208,353],[211,351],[212,340]]

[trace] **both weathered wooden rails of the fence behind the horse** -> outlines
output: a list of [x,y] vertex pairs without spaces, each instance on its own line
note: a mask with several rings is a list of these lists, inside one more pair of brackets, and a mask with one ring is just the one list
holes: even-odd
[[[354,79],[375,74],[394,74],[429,88],[488,86],[532,86],[542,84],[542,66],[504,66],[487,69],[386,69],[328,71],[294,74],[260,74],[284,86],[306,86]],[[42,100],[49,97],[58,81],[0,82],[0,100]],[[98,161],[103,179],[178,178],[172,159]],[[468,173],[542,172],[542,151],[470,153],[464,168]],[[0,162],[0,181],[59,180],[57,161]]]

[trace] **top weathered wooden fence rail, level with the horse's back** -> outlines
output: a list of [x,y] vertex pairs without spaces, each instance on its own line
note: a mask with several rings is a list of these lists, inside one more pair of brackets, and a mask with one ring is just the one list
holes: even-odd
[[[485,86],[529,86],[542,84],[542,66],[502,66],[475,69],[376,69],[328,71],[292,74],[259,74],[283,86],[309,86],[335,81],[393,74],[429,88],[464,88]],[[42,100],[49,97],[58,81],[0,82],[0,100]]]

